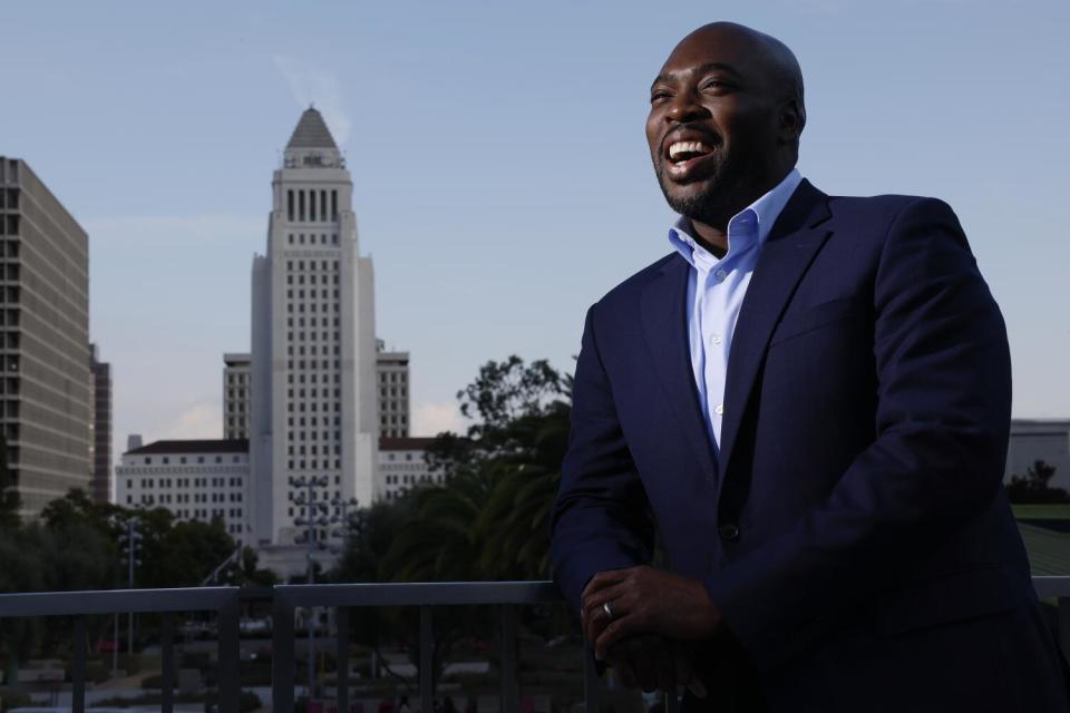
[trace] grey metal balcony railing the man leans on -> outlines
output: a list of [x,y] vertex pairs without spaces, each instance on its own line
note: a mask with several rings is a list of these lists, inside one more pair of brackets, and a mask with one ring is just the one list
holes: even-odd
[[[1058,599],[1058,632],[1063,651],[1070,652],[1070,576],[1033,577],[1042,599]],[[420,710],[431,713],[431,656],[434,622],[431,607],[495,606],[500,624],[502,711],[521,710],[517,664],[517,613],[522,605],[562,603],[551,582],[437,583],[437,584],[346,584],[285,585],[265,590],[273,607],[272,707],[274,713],[293,713],[295,677],[294,615],[299,607],[337,609],[338,656],[337,704],[339,713],[349,711],[349,611],[353,607],[419,607],[419,691]],[[160,711],[174,711],[174,614],[215,612],[217,615],[218,710],[237,713],[241,695],[239,678],[242,590],[236,587],[189,589],[124,589],[106,592],[62,592],[0,595],[0,619],[66,616],[74,622],[71,661],[71,710],[86,710],[86,617],[100,614],[160,614]],[[311,655],[311,652],[310,652]],[[583,701],[586,711],[597,711],[599,686],[590,649],[583,654]],[[667,711],[677,710],[674,696],[668,696]]]

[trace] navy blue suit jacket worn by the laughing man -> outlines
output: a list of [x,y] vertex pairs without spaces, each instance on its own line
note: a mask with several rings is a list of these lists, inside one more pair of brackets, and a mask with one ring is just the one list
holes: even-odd
[[740,311],[719,453],[688,270],[670,254],[587,313],[553,514],[574,611],[656,533],[774,710],[1062,710],[1001,482],[1006,333],[951,208],[799,186]]

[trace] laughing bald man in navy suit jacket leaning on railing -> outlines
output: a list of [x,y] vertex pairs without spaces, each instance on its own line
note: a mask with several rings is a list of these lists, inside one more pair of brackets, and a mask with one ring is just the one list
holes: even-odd
[[688,711],[1066,711],[1001,482],[999,309],[945,204],[802,179],[805,123],[790,50],[738,25],[654,80],[681,218],[587,313],[554,577]]

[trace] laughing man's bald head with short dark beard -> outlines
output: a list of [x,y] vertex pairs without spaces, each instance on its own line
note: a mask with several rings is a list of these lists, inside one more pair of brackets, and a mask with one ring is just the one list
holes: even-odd
[[675,212],[723,229],[787,175],[804,120],[797,72],[786,47],[738,25],[708,25],[677,46],[651,87],[646,119]]

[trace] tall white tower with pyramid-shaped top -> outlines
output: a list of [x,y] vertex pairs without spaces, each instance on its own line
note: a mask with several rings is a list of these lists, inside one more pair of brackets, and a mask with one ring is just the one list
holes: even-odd
[[272,180],[268,251],[253,260],[250,459],[253,529],[288,546],[303,488],[318,500],[374,497],[374,283],[361,257],[352,183],[315,109],[301,116]]

